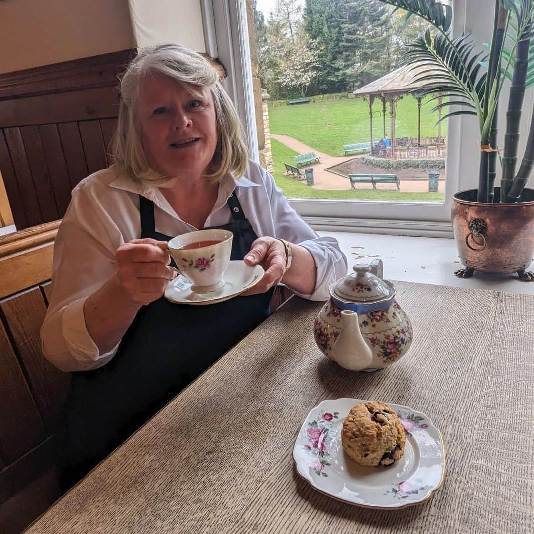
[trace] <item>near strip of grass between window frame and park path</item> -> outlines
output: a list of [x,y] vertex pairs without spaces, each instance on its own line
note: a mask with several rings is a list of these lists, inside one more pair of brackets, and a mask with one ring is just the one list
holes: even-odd
[[[297,182],[284,174],[284,161],[293,161],[297,152],[286,145],[271,139],[272,156],[274,160],[274,181],[288,198],[301,199],[352,199],[352,200],[418,200],[420,202],[443,202],[443,193],[403,193],[400,191],[368,191],[347,189],[347,191],[329,191],[327,189],[312,189],[305,182]],[[347,180],[347,187],[349,180]]]

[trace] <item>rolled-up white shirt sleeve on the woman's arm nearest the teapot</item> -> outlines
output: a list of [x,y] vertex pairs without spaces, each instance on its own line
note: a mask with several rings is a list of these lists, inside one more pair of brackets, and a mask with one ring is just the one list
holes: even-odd
[[317,281],[309,295],[296,293],[304,299],[327,300],[329,287],[336,280],[347,276],[347,258],[333,237],[319,237],[289,204],[284,192],[276,186],[272,175],[265,172],[265,187],[271,199],[271,212],[276,236],[300,245],[308,250],[315,261]]

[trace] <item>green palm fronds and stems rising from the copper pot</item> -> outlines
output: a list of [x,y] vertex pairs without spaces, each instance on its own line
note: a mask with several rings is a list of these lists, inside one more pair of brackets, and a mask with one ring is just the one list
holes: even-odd
[[[441,120],[454,115],[475,115],[480,129],[478,202],[493,202],[496,176],[498,104],[504,82],[511,80],[504,150],[501,156],[501,202],[520,202],[534,163],[534,111],[527,146],[519,170],[517,147],[525,89],[534,85],[534,0],[493,0],[494,17],[489,52],[469,35],[453,37],[452,8],[436,0],[380,0],[418,15],[433,27],[407,45],[405,60],[425,65],[417,81],[427,81],[422,96],[442,93],[439,108],[458,106]],[[439,97],[434,97],[437,99]]]

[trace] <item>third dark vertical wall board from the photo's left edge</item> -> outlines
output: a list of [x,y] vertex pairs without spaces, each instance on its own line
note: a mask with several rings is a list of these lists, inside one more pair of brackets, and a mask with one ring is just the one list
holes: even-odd
[[39,130],[36,126],[23,126],[20,129],[20,135],[35,188],[35,199],[41,209],[43,219],[45,221],[55,221],[61,215],[52,190],[50,170],[44,156]]

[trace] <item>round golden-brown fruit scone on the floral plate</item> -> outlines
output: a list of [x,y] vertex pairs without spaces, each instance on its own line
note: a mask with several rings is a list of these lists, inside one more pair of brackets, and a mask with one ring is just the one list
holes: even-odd
[[390,466],[404,456],[406,433],[387,404],[367,402],[352,408],[345,417],[341,443],[357,464]]

